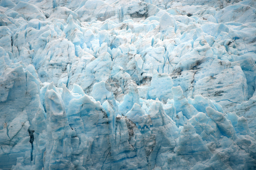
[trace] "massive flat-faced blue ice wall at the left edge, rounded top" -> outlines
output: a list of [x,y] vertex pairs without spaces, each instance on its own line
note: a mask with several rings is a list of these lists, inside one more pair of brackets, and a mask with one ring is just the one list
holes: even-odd
[[33,141],[30,141],[32,134],[29,131],[34,131],[34,113],[42,108],[39,97],[40,81],[32,65],[17,63],[6,65],[0,82],[0,164],[3,169],[8,169],[19,157],[23,157],[21,162],[24,164],[31,163]]

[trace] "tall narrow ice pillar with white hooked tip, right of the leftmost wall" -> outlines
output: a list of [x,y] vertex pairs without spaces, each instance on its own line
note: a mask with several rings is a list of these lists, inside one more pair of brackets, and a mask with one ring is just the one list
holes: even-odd
[[44,169],[69,169],[72,129],[68,124],[64,103],[61,96],[49,88],[45,94],[45,105],[48,125]]

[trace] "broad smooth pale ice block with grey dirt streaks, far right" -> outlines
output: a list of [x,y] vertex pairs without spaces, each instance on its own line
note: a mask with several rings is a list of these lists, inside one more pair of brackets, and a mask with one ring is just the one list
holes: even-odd
[[[230,80],[232,82],[229,82]],[[226,90],[227,86],[228,88],[233,86],[234,91]],[[218,89],[218,91],[213,89]],[[241,67],[234,66],[233,68],[223,70],[216,76],[204,77],[197,81],[194,94],[202,94],[216,102],[229,100],[230,102],[241,103],[248,100],[246,77]]]

